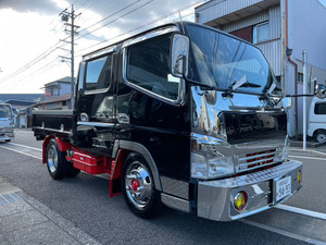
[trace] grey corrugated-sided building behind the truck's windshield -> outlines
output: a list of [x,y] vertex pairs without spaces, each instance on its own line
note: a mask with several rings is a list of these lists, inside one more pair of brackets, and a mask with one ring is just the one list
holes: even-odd
[[[308,53],[308,93],[312,79],[326,82],[326,8],[318,0],[212,0],[196,8],[197,22],[256,45],[285,94],[302,94],[302,50]],[[308,108],[311,98],[308,99]],[[302,133],[302,99],[294,99],[289,133]]]

